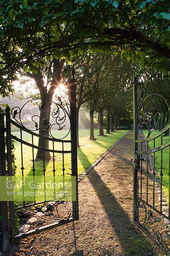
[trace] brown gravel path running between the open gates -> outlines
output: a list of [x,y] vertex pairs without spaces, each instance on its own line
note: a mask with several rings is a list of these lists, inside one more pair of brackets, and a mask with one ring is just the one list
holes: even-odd
[[163,256],[132,222],[132,156],[130,132],[80,181],[79,221],[14,243],[5,255]]

